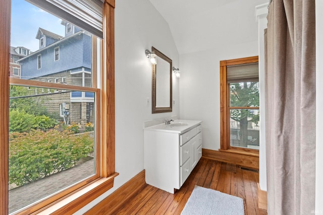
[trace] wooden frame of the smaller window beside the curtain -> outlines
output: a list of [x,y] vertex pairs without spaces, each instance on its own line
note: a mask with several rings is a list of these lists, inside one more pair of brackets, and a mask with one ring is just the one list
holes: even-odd
[[[258,62],[258,56],[220,61],[220,136],[219,151],[259,156],[259,150],[230,146],[230,87],[227,83],[227,66]],[[248,109],[253,109],[248,107]]]

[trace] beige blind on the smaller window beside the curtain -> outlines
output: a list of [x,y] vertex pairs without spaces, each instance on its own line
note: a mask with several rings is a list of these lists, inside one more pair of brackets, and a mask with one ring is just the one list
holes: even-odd
[[258,63],[227,66],[227,83],[258,82]]

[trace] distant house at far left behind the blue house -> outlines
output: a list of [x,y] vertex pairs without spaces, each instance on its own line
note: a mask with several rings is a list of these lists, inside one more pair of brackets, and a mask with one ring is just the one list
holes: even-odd
[[20,79],[20,64],[17,61],[31,53],[25,47],[10,46],[10,77]]

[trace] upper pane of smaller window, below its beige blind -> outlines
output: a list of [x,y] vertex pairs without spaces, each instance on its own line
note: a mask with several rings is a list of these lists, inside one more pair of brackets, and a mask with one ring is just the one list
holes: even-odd
[[259,107],[259,82],[230,83],[231,107]]

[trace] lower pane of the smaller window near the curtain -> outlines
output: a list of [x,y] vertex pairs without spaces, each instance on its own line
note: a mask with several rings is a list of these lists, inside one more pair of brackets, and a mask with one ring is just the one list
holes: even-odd
[[230,146],[259,149],[259,110],[230,110]]

